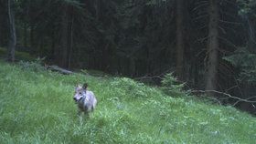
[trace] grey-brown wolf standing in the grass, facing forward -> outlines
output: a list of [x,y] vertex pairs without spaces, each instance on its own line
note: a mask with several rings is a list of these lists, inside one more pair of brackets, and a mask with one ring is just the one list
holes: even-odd
[[89,114],[94,110],[97,104],[97,99],[92,91],[87,90],[88,85],[84,84],[83,86],[78,85],[75,88],[75,95],[73,99],[78,105],[80,115],[82,112]]

